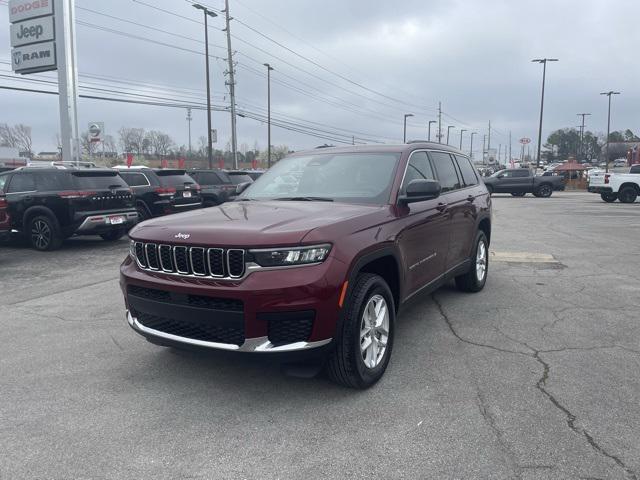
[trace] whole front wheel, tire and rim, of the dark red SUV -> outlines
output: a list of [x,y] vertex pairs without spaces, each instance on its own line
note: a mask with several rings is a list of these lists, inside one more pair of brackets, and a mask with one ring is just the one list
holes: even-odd
[[358,276],[327,362],[329,377],[351,388],[376,383],[389,364],[395,307],[387,282],[379,275]]

